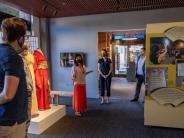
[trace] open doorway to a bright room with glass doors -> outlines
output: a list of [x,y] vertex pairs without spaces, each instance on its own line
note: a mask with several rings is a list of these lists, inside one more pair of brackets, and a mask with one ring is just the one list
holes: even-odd
[[[98,58],[101,49],[108,51],[113,64],[112,98],[131,99],[134,96],[135,67],[141,48],[145,46],[145,30],[98,33]],[[143,100],[142,87],[140,99]]]

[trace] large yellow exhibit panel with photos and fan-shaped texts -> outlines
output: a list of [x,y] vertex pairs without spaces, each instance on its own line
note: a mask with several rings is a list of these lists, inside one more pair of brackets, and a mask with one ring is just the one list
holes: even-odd
[[184,22],[146,28],[144,124],[184,128]]

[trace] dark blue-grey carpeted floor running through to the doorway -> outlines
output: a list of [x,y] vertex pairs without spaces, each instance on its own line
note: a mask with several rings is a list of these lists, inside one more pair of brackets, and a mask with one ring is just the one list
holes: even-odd
[[[142,100],[130,102],[134,88],[122,87],[114,80],[112,99],[108,105],[100,105],[99,99],[88,99],[88,112],[75,117],[71,98],[60,99],[67,105],[67,115],[41,135],[29,138],[184,138],[184,130],[144,126]],[[124,80],[121,80],[124,81]],[[116,82],[116,83],[115,83]],[[134,85],[135,83],[128,83]],[[125,84],[127,86],[127,84]],[[120,90],[121,89],[121,90]],[[125,90],[126,89],[126,90]],[[144,93],[143,93],[144,94]],[[142,94],[142,95],[143,95]]]

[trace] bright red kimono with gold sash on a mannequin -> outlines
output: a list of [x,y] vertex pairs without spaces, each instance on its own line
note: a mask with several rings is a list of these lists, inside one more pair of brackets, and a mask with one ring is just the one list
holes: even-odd
[[38,109],[45,110],[49,108],[49,83],[47,60],[40,49],[34,51],[34,58],[34,72],[36,82],[36,93],[38,99]]

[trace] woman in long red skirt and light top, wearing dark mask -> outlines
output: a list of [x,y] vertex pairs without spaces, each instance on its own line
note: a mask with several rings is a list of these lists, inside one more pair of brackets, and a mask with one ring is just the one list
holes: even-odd
[[87,111],[86,98],[86,68],[83,58],[80,54],[76,54],[72,67],[72,80],[74,81],[73,109],[76,116],[81,116]]

